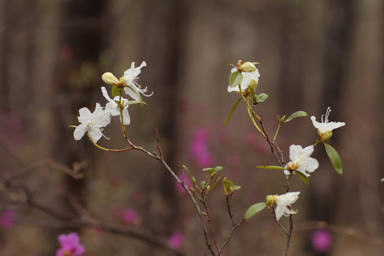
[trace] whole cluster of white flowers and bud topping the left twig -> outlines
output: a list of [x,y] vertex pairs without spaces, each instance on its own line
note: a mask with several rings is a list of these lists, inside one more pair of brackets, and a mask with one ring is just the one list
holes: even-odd
[[[142,88],[141,85],[137,83],[138,75],[141,73],[141,69],[146,66],[145,61],[142,65],[135,68],[134,62],[132,62],[131,68],[124,72],[122,78],[117,79],[112,73],[107,72],[102,75],[102,80],[107,85],[112,85],[112,95],[114,98],[110,98],[108,95],[107,89],[102,87],[102,95],[108,101],[105,107],[101,107],[99,103],[96,103],[95,111],[93,113],[87,109],[87,107],[82,107],[79,110],[80,117],[78,120],[80,125],[76,127],[73,137],[76,140],[80,140],[85,133],[89,137],[97,142],[102,136],[102,129],[106,127],[111,122],[111,117],[119,116],[120,122],[124,125],[129,125],[131,119],[128,113],[128,107],[131,104],[142,104],[142,97],[151,96],[152,94],[146,94],[146,87]],[[129,101],[122,97],[122,91],[124,91],[129,97],[132,97],[133,101]],[[115,95],[114,95],[115,94]]]

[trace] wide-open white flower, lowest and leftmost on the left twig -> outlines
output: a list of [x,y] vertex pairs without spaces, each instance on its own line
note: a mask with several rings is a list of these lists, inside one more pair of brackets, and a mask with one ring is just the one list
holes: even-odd
[[73,132],[73,137],[79,140],[88,132],[90,137],[97,142],[102,137],[101,128],[106,127],[111,122],[110,112],[102,110],[100,104],[96,103],[96,108],[93,113],[91,113],[87,107],[82,107],[79,113],[80,117],[78,117],[78,120],[81,124],[76,127],[75,132]]

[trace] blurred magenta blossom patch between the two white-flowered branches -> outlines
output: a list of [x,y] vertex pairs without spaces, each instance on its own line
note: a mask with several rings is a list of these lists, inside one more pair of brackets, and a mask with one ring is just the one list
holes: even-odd
[[204,168],[210,166],[213,156],[208,151],[208,132],[206,129],[196,129],[193,134],[193,142],[191,144],[191,156],[196,160],[199,167]]

